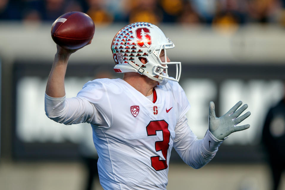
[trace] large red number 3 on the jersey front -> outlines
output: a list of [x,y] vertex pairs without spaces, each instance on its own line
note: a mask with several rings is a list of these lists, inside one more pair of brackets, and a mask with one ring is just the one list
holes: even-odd
[[151,156],[151,166],[156,170],[164,170],[167,166],[167,150],[169,148],[170,131],[168,130],[168,123],[164,120],[151,121],[146,126],[148,136],[156,135],[157,131],[162,131],[163,140],[155,142],[156,152],[162,151],[165,160],[160,160],[159,156]]

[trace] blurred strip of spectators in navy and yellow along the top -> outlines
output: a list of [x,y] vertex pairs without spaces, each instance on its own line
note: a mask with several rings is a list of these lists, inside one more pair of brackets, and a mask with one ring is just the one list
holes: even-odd
[[136,21],[285,26],[285,0],[1,0],[0,20],[54,21],[69,11],[87,13],[96,24]]

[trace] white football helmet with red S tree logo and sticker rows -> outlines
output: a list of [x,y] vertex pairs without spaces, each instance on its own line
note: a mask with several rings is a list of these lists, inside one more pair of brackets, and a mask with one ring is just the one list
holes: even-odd
[[[115,35],[111,50],[115,61],[115,72],[138,72],[161,84],[167,80],[179,81],[181,62],[167,62],[166,49],[175,45],[161,29],[151,23],[137,22],[122,28]],[[159,58],[164,50],[165,60]],[[147,59],[143,64],[139,57]],[[176,64],[176,77],[169,77],[167,64]],[[156,78],[155,76],[159,76]]]

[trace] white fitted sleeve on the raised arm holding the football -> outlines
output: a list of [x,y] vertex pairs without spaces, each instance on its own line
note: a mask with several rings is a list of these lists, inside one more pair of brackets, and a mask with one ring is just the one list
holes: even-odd
[[66,125],[86,122],[107,126],[102,114],[84,98],[53,98],[45,94],[45,113],[48,118]]

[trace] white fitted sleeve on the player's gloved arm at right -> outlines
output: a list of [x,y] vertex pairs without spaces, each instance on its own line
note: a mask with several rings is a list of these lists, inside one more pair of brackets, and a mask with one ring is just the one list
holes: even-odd
[[184,115],[175,126],[173,147],[186,164],[199,169],[213,159],[223,140],[216,139],[209,130],[203,139],[198,140],[187,121]]

